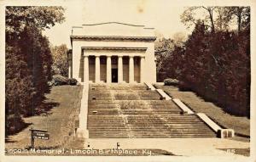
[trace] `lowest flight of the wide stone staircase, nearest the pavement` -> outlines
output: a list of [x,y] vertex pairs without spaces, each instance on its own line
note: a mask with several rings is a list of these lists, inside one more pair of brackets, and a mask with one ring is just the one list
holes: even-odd
[[[168,115],[173,120],[160,120],[159,116],[127,115],[111,119],[110,116],[89,119],[90,137],[216,137],[216,134],[195,115]],[[172,117],[171,117],[172,116]],[[123,120],[122,120],[123,119]]]

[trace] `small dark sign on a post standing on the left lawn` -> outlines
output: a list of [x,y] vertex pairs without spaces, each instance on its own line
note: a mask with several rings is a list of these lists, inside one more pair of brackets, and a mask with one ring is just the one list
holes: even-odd
[[44,140],[49,140],[49,134],[46,133],[48,132],[47,130],[39,130],[39,129],[29,129],[31,131],[31,147],[34,148],[35,146],[35,139],[44,139]]

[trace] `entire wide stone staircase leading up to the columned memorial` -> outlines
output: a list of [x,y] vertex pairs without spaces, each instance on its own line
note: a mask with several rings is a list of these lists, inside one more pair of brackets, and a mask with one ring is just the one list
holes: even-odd
[[197,115],[143,84],[90,84],[90,138],[216,137]]

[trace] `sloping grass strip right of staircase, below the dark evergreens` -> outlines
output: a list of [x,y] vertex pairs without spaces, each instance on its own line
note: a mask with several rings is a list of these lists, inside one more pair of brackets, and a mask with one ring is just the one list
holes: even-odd
[[214,103],[206,102],[198,97],[195,92],[181,92],[177,87],[162,86],[155,84],[157,88],[168,93],[172,98],[179,98],[183,103],[196,113],[205,113],[220,126],[234,129],[237,135],[250,136],[250,120],[247,117],[235,116],[225,113],[224,110],[216,106]]

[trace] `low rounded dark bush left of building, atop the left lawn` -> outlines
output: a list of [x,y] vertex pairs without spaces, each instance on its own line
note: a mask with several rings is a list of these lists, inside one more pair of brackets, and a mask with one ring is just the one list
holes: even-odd
[[49,86],[61,86],[61,85],[77,85],[78,81],[74,78],[67,78],[62,75],[53,75],[52,81],[49,82]]

